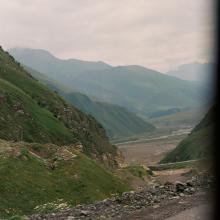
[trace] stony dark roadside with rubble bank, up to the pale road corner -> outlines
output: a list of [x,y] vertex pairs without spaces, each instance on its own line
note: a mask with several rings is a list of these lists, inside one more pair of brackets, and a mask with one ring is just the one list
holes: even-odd
[[194,176],[186,183],[155,184],[139,191],[125,192],[122,196],[115,196],[93,204],[77,205],[59,213],[32,215],[28,219],[162,220],[175,216],[184,210],[210,204],[211,197],[207,192],[213,188],[212,183],[213,177],[208,175]]

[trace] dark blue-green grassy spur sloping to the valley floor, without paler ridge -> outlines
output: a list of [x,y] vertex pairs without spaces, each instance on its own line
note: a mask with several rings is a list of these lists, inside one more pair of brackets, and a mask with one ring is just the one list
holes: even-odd
[[147,133],[155,129],[153,125],[123,107],[95,102],[80,93],[70,93],[64,97],[83,112],[96,118],[112,139]]

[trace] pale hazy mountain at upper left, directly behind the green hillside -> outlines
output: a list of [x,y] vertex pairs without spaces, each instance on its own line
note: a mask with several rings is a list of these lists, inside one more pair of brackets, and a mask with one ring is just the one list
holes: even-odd
[[74,79],[81,72],[109,69],[111,66],[104,62],[89,62],[77,59],[58,59],[46,50],[14,48],[9,53],[17,61],[34,70],[46,73],[59,82]]

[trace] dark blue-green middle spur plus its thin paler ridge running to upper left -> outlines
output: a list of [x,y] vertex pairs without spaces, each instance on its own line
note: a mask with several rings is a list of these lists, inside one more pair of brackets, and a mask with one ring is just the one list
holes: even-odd
[[[93,116],[105,128],[111,139],[127,138],[141,133],[148,133],[155,127],[127,109],[104,102],[91,100],[86,95],[73,92],[73,89],[46,77],[27,66],[25,69],[35,78],[57,91],[62,97],[86,114]],[[72,91],[71,91],[72,90]]]

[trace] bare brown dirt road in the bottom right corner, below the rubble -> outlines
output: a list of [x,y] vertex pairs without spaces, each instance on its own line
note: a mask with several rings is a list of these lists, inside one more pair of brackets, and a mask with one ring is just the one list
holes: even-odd
[[154,207],[147,207],[126,220],[211,220],[213,219],[212,196],[199,192],[193,196],[164,201]]

